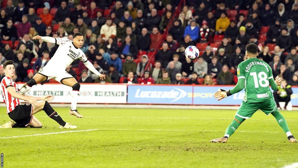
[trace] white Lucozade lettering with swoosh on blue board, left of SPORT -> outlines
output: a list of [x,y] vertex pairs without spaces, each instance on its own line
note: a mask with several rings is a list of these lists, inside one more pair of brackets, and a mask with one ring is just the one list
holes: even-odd
[[181,98],[184,98],[187,93],[179,88],[174,88],[171,91],[141,91],[136,90],[135,98],[161,98],[161,99],[174,99],[171,102],[175,102]]

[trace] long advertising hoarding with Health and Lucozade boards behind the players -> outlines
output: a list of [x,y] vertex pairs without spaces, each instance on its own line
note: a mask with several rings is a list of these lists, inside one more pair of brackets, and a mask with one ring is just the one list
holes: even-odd
[[[20,84],[19,86],[22,86]],[[232,89],[233,85],[126,85],[126,84],[81,84],[77,103],[109,104],[170,104],[170,105],[217,105],[238,106],[242,103],[244,90],[221,101],[213,95],[218,88]],[[71,87],[57,84],[38,84],[26,95],[54,95],[52,103],[70,103]],[[292,106],[298,106],[298,87],[293,87]],[[1,92],[2,94],[2,92]],[[2,95],[0,102],[3,102]]]

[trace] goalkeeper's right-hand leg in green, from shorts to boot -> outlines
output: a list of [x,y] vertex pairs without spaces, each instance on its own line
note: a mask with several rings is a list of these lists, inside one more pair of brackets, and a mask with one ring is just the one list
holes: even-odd
[[[294,138],[294,136],[291,134],[289,126],[285,120],[285,117],[283,117],[282,114],[280,114],[279,110],[277,109],[277,106],[274,102],[274,100],[266,101],[262,103],[262,108],[260,108],[265,114],[269,115],[270,113],[275,117],[278,125],[283,129],[285,134],[288,137],[288,140],[290,142],[297,142],[297,140]],[[292,139],[291,139],[292,138]]]

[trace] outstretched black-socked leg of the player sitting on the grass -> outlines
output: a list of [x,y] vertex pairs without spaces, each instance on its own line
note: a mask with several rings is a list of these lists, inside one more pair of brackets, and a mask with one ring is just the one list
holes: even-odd
[[42,101],[37,106],[33,106],[32,115],[40,112],[41,110],[44,110],[50,118],[60,124],[60,128],[77,128],[77,126],[66,123],[47,101]]

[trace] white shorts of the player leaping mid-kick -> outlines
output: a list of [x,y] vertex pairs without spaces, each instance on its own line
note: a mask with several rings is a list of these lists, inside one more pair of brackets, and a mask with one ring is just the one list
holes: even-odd
[[37,73],[47,77],[46,80],[53,79],[60,83],[64,79],[73,78],[73,76],[68,72],[66,72],[65,70],[59,70],[59,69],[50,68],[46,66],[42,68],[40,71],[38,71]]

